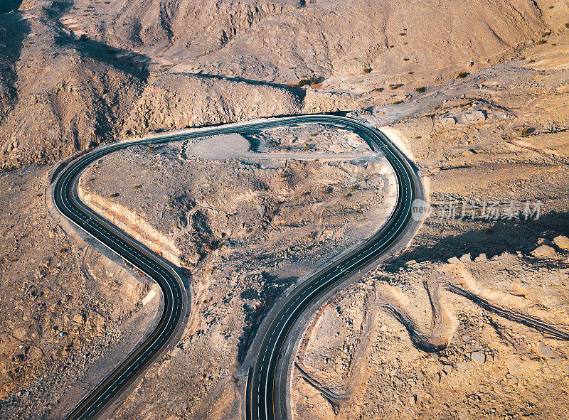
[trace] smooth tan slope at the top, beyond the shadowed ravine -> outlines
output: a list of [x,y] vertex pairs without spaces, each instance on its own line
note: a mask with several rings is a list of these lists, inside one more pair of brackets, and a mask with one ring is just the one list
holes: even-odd
[[272,82],[496,60],[546,28],[530,0],[78,0],[75,8],[101,41],[188,71]]

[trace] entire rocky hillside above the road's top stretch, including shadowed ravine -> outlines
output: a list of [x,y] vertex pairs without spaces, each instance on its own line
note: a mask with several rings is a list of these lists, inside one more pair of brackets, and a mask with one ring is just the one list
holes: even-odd
[[156,129],[393,102],[381,86],[405,98],[538,39],[558,26],[546,6],[23,1],[0,16],[0,166]]

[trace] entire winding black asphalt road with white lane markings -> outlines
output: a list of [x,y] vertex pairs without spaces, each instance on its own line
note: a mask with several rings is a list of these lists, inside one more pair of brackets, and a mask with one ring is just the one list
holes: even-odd
[[[269,320],[270,327],[258,348],[255,365],[250,369],[245,411],[246,417],[251,420],[282,417],[283,411],[279,407],[275,411],[275,372],[282,344],[285,343],[294,322],[310,303],[322,294],[333,290],[334,286],[339,286],[342,280],[353,271],[400,247],[405,234],[413,231],[416,226],[411,217],[412,203],[415,198],[422,198],[422,186],[417,169],[385,138],[381,131],[372,129],[355,119],[329,115],[283,117],[124,141],[94,149],[68,164],[59,173],[53,189],[53,199],[55,206],[63,216],[119,254],[127,262],[144,271],[156,281],[164,296],[164,311],[161,313],[154,332],[66,419],[99,418],[105,414],[105,409],[110,404],[124,399],[132,384],[146,372],[151,362],[161,357],[164,350],[175,344],[176,334],[185,326],[183,325],[184,314],[189,305],[188,295],[176,266],[107,222],[78,199],[78,178],[85,168],[106,154],[137,144],[161,144],[206,135],[246,133],[255,129],[306,123],[333,124],[351,129],[366,139],[373,149],[381,150],[395,170],[399,185],[399,199],[393,215],[370,241],[355,249],[341,261],[334,262],[331,266],[314,274],[308,281],[303,281],[302,284],[293,288],[292,293],[287,293],[285,296],[288,299],[285,305],[272,320]],[[279,384],[277,384],[278,388]]]

